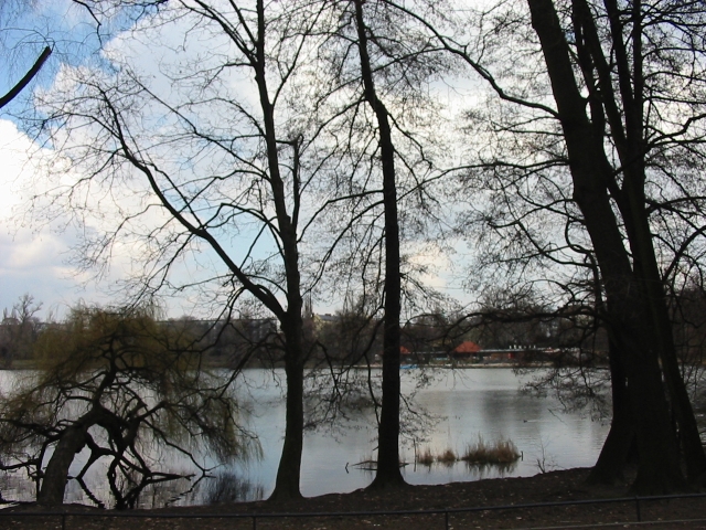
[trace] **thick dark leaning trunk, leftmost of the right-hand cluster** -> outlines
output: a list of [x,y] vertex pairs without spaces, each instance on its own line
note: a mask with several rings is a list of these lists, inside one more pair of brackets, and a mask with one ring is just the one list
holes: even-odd
[[633,487],[640,494],[678,489],[684,480],[655,350],[660,344],[651,340],[646,294],[630,265],[608,197],[606,184],[612,178],[612,168],[603,151],[603,135],[593,129],[586,115],[586,102],[574,77],[568,44],[552,0],[528,0],[528,4],[564,130],[574,200],[584,214],[606,289],[609,332],[628,377],[640,454]]

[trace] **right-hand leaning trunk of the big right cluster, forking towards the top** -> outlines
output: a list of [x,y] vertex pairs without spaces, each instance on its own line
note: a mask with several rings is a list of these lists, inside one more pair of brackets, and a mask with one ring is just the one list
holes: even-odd
[[[651,325],[646,329],[652,333],[652,343],[656,344],[662,360],[664,382],[670,392],[672,407],[680,428],[680,436],[684,449],[684,457],[689,479],[696,479],[706,471],[706,455],[698,434],[698,426],[692,409],[692,403],[684,385],[678,368],[672,322],[668,316],[667,300],[657,265],[649,222],[645,210],[645,152],[648,149],[644,124],[644,73],[642,41],[644,39],[642,25],[642,6],[640,1],[632,2],[627,9],[632,10],[632,17],[621,17],[616,0],[606,0],[606,11],[610,23],[610,41],[613,54],[611,61],[617,72],[618,91],[622,104],[622,113],[616,100],[618,95],[612,91],[611,66],[605,56],[605,47],[600,43],[593,14],[586,0],[574,0],[574,24],[578,25],[577,46],[588,52],[579,59],[582,63],[585,77],[598,74],[599,85],[589,88],[592,113],[603,123],[603,115],[608,116],[616,149],[622,166],[623,186],[619,192],[618,208],[624,221],[630,250],[633,259],[633,274],[644,294],[646,317]],[[631,24],[631,31],[625,31],[625,24]],[[629,53],[625,39],[632,42],[632,54]],[[579,57],[581,57],[579,53]],[[590,86],[590,83],[589,83]],[[596,105],[602,102],[605,105]],[[622,117],[624,116],[624,120]]]

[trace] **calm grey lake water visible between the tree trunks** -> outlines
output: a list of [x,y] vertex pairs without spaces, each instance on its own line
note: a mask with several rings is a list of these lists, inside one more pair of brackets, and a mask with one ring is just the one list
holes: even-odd
[[[403,392],[413,393],[417,386],[418,370],[403,372]],[[587,415],[567,414],[553,398],[537,399],[521,391],[523,380],[511,369],[438,370],[428,385],[417,389],[411,402],[413,423],[428,421],[424,432],[414,433],[416,441],[402,448],[403,459],[409,465],[403,468],[410,484],[443,484],[454,480],[475,480],[495,476],[531,476],[545,470],[569,467],[587,467],[595,464],[608,434],[608,425],[591,421]],[[3,381],[7,384],[9,375]],[[214,469],[221,480],[211,479],[195,487],[182,480],[156,489],[141,499],[143,506],[164,504],[204,504],[215,498],[267,497],[275,484],[285,427],[282,392],[284,373],[266,370],[247,370],[242,381],[242,398],[253,409],[249,427],[259,437],[264,457],[247,464],[229,464]],[[523,379],[524,378],[524,379]],[[2,382],[2,381],[0,381]],[[416,414],[416,415],[415,415]],[[421,418],[421,420],[420,420]],[[327,431],[327,430],[323,430]],[[354,464],[374,457],[375,435],[372,410],[357,411],[335,432],[312,431],[304,437],[301,489],[304,496],[328,492],[347,492],[365,487],[373,478],[371,471],[361,470]],[[469,443],[482,436],[492,443],[510,439],[522,452],[523,459],[511,469],[469,469],[464,463],[452,466],[435,464],[430,467],[414,465],[415,451],[429,448],[441,453],[447,448],[457,454]],[[81,456],[81,455],[79,455]],[[188,469],[188,464],[173,456],[163,456],[173,469]],[[220,463],[208,462],[211,466]],[[108,491],[101,487],[101,469],[89,477],[92,490],[110,506]],[[218,490],[218,486],[233,487],[234,477],[255,487],[247,491]],[[90,501],[69,481],[67,502]],[[185,492],[190,489],[191,491]],[[227,489],[227,488],[226,488]],[[33,498],[33,486],[20,474],[0,475],[0,490],[6,499]]]

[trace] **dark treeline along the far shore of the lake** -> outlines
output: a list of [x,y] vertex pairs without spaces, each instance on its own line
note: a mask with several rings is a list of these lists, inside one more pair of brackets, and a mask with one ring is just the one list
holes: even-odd
[[[3,310],[0,322],[0,362],[6,369],[33,368],[38,361],[36,343],[42,333],[71,325],[72,317],[56,321],[40,319],[42,304],[23,295],[11,309]],[[79,310],[75,308],[74,310]],[[706,352],[706,293],[689,288],[671,303],[673,332],[680,362],[688,367],[704,364]],[[120,309],[96,308],[120,315]],[[229,320],[203,320],[193,317],[159,318],[154,324],[174,333],[188,333],[194,351],[204,357],[208,368],[281,367],[282,337],[274,318],[239,317]],[[382,359],[382,319],[339,310],[303,315],[307,363],[311,368],[335,363],[370,365]],[[574,306],[560,310],[539,305],[485,307],[474,314],[430,312],[419,315],[400,327],[400,348],[416,362],[447,356],[464,341],[484,350],[550,350],[547,356],[528,356],[527,360],[595,365],[608,358],[608,335],[591,308]],[[563,354],[567,352],[567,354]],[[570,352],[570,353],[569,353]],[[585,362],[584,362],[585,361]]]

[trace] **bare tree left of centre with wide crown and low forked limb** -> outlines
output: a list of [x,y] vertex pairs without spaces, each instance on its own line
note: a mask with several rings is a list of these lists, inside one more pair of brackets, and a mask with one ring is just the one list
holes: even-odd
[[[324,82],[311,83],[324,76],[314,66],[321,35],[330,34],[328,4],[84,3],[96,20],[137,15],[108,65],[67,68],[41,100],[47,141],[84,176],[56,188],[50,209],[61,203],[115,221],[79,248],[86,267],[126,242],[142,248],[133,299],[191,293],[225,314],[255,303],[275,316],[287,426],[272,498],[300,497],[302,299],[333,252],[319,253],[312,234],[329,230],[317,227],[329,209],[359,195],[325,186],[342,148],[328,132],[336,116],[322,116]],[[178,49],[167,28],[183,39]],[[159,50],[159,64],[141,71],[140,50]],[[89,193],[93,187],[105,195]],[[334,234],[333,247],[339,242]],[[182,261],[194,265],[189,274]]]

